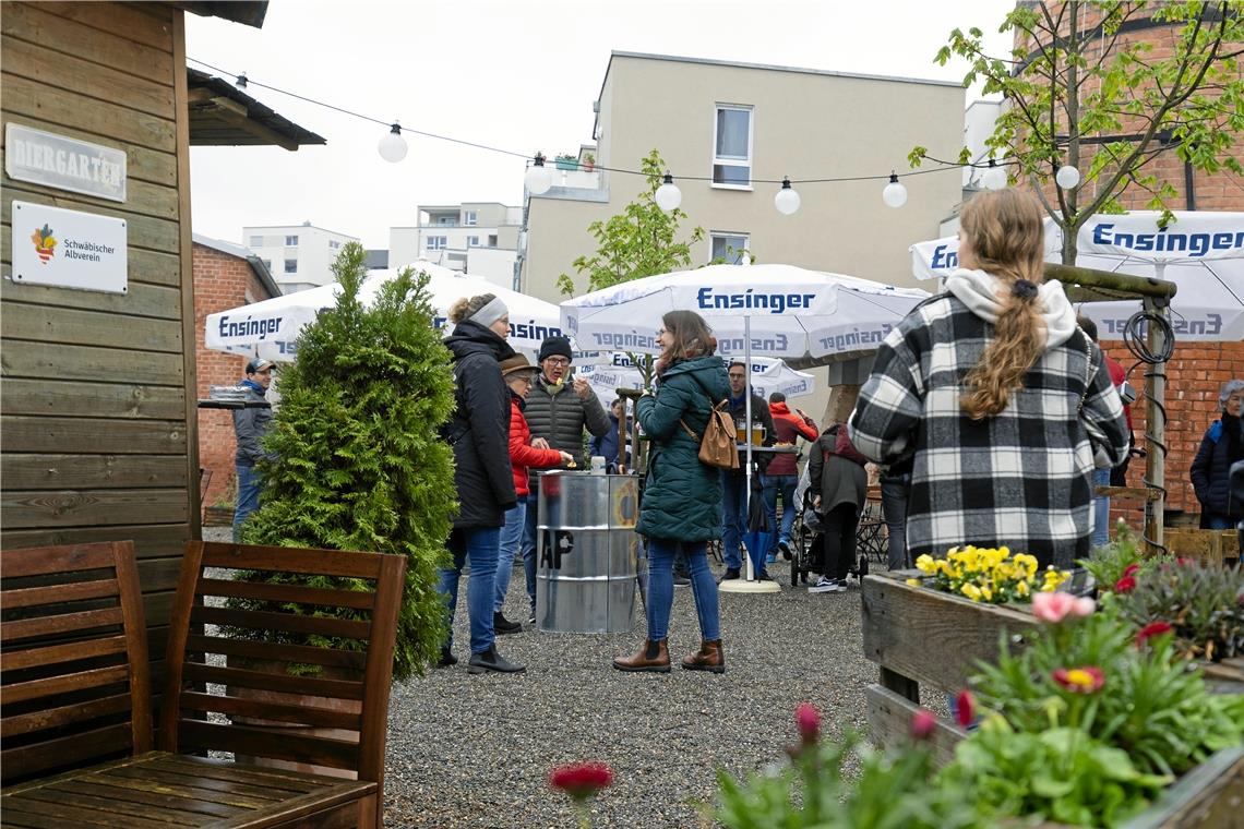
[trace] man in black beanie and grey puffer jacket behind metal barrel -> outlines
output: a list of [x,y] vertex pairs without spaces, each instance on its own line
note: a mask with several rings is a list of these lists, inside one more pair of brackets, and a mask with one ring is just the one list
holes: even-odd
[[[527,395],[526,419],[531,426],[531,444],[542,449],[570,452],[586,469],[583,456],[583,428],[600,437],[610,430],[610,416],[586,378],[576,377],[567,385],[570,363],[573,354],[570,339],[561,336],[546,337],[540,344],[536,362],[540,374]],[[529,621],[535,623],[536,609],[536,505],[539,490],[535,476],[527,495],[526,528],[522,533],[522,568],[527,578],[527,598],[531,600]]]

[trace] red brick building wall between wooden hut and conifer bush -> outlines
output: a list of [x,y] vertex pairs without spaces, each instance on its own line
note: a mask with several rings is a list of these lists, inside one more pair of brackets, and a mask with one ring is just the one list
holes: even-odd
[[[204,346],[208,314],[267,298],[267,291],[246,260],[195,242],[194,342],[199,399],[208,396],[208,387],[233,385],[246,375],[245,357],[208,350]],[[216,409],[200,409],[199,465],[211,472],[203,496],[204,505],[218,501],[233,503],[234,450],[233,415]]]

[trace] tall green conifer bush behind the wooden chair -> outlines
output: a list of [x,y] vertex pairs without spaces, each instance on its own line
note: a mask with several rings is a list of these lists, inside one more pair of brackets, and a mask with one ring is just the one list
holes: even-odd
[[[281,368],[281,401],[264,444],[277,460],[261,470],[260,508],[243,538],[404,556],[393,655],[393,677],[401,680],[422,674],[445,636],[437,567],[448,559],[444,542],[457,492],[453,452],[439,428],[454,406],[453,373],[432,326],[428,277],[406,268],[364,307],[363,257],[357,242],[342,247],[332,265],[342,286],[337,305],[304,329],[295,362]],[[352,579],[304,580],[348,588]],[[309,615],[325,610],[306,608]],[[358,614],[350,608],[332,613]],[[306,641],[358,646],[322,636]]]

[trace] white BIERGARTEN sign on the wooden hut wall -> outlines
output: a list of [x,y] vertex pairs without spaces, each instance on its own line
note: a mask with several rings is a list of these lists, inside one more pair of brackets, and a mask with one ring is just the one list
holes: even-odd
[[4,169],[10,179],[57,190],[126,200],[126,154],[119,149],[9,123]]

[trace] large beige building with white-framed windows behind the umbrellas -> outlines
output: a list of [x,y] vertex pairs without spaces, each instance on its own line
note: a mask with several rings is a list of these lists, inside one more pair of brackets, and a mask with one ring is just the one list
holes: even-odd
[[596,109],[593,174],[555,178],[527,198],[520,290],[551,302],[565,298],[560,273],[585,292],[572,262],[596,247],[587,226],[646,186],[616,169],[637,170],[653,148],[683,194],[682,237],[704,229],[693,266],[745,249],[756,262],[914,286],[908,246],[934,237],[962,198],[958,168],[904,178],[899,209],[882,203],[883,179],[805,183],[795,184],[801,208],[785,216],[770,181],[904,173],[914,145],[954,159],[964,123],[955,83],[613,52]]

